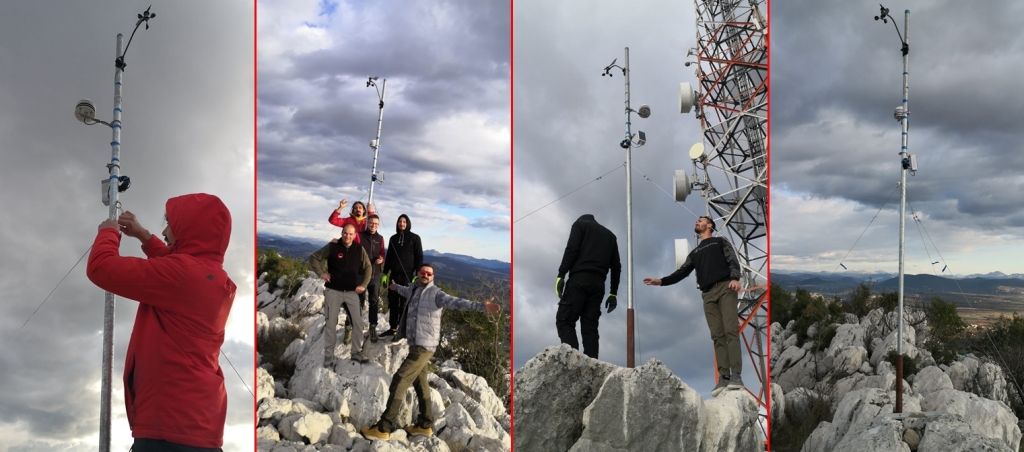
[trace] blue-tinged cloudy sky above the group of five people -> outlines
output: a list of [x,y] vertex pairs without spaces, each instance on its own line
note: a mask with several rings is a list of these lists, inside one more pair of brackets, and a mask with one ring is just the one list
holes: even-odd
[[[511,259],[509,2],[260,1],[260,232],[325,242],[374,189],[381,233],[412,217],[424,249]],[[347,208],[346,208],[347,210]]]

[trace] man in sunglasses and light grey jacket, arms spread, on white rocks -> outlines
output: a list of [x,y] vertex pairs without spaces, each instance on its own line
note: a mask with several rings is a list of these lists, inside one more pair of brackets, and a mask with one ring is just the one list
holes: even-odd
[[394,340],[409,339],[409,357],[391,377],[387,408],[381,414],[380,421],[372,427],[360,429],[362,436],[371,441],[391,437],[406,392],[414,383],[420,415],[414,424],[406,427],[406,432],[410,435],[433,435],[434,413],[430,403],[430,385],[427,383],[427,364],[440,342],[441,313],[444,307],[487,314],[502,311],[501,305],[493,302],[494,297],[478,303],[444,293],[434,285],[434,268],[429,263],[422,264],[419,270],[416,280],[410,286],[395,284],[392,279],[388,287],[409,298],[394,337]]

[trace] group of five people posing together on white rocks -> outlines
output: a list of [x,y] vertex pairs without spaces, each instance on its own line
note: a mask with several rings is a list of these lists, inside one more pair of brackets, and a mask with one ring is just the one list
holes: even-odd
[[[434,413],[430,402],[427,367],[440,343],[440,323],[443,309],[496,314],[501,306],[494,297],[482,303],[449,295],[434,285],[434,268],[423,261],[420,236],[412,232],[413,221],[404,213],[398,215],[395,234],[384,245],[377,233],[380,216],[373,204],[356,201],[347,217],[342,217],[346,200],[342,200],[328,220],[342,229],[341,240],[331,243],[310,256],[313,270],[324,280],[324,367],[334,369],[338,316],[347,312],[345,340],[351,339],[351,359],[369,363],[364,354],[361,303],[370,301],[370,341],[377,342],[378,296],[380,286],[388,285],[388,317],[391,329],[381,336],[393,340],[409,340],[409,356],[391,378],[388,400],[380,420],[360,433],[369,440],[388,440],[398,426],[398,415],[406,392],[412,385],[420,405],[420,414],[410,435],[433,435]],[[351,331],[351,338],[349,337]]]

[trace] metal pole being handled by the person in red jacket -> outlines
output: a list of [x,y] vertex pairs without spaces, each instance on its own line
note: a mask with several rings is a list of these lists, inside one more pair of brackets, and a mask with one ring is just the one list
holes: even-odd
[[[118,33],[117,58],[122,56],[124,36]],[[111,121],[111,163],[108,198],[110,207],[106,217],[118,218],[118,178],[121,176],[121,78],[124,71],[114,69],[114,120]],[[115,295],[103,295],[103,363],[99,393],[99,451],[111,450],[111,374],[114,370],[114,301]]]

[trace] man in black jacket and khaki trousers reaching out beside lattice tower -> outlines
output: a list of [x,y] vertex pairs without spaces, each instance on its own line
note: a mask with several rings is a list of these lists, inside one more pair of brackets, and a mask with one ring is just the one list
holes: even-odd
[[[715,342],[715,361],[721,377],[712,389],[716,397],[728,387],[741,389],[743,380],[742,357],[739,355],[739,323],[737,303],[739,292],[739,261],[736,251],[724,237],[712,237],[715,221],[710,217],[697,218],[693,232],[700,236],[700,243],[686,256],[679,270],[662,279],[644,278],[648,286],[676,284],[697,271],[697,288],[703,299],[705,318]],[[730,373],[731,370],[731,373]]]

